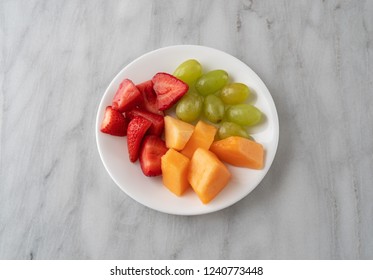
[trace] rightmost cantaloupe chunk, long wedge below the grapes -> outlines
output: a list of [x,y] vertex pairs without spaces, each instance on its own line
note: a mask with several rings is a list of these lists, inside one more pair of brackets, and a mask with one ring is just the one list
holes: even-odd
[[212,143],[210,151],[219,159],[234,166],[262,169],[264,148],[260,143],[249,139],[231,136]]

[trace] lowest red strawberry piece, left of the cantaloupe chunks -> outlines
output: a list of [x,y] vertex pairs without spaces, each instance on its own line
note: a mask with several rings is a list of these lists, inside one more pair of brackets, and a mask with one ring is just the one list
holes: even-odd
[[140,151],[140,166],[146,176],[162,174],[161,157],[167,152],[166,143],[158,136],[145,136]]

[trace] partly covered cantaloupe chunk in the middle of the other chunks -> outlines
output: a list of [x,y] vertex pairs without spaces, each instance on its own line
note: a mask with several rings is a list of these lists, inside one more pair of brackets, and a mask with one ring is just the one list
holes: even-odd
[[197,148],[208,150],[214,141],[216,131],[217,128],[215,126],[199,121],[181,153],[188,158],[192,158],[193,153]]

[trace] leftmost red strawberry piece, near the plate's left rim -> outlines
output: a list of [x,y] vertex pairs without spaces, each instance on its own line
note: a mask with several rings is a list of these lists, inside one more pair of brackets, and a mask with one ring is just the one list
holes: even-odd
[[104,119],[101,123],[101,132],[115,136],[126,136],[128,120],[122,113],[114,110],[111,106],[105,109]]

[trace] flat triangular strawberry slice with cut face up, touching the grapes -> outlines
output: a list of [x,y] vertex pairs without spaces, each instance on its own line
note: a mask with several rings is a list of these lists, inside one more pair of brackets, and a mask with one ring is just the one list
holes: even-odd
[[167,73],[155,74],[152,81],[161,111],[171,108],[189,89],[186,83]]

